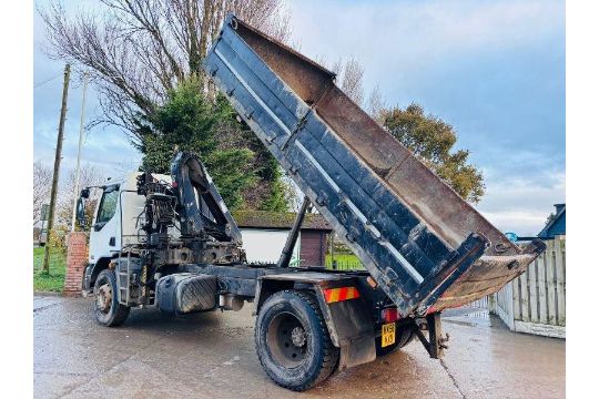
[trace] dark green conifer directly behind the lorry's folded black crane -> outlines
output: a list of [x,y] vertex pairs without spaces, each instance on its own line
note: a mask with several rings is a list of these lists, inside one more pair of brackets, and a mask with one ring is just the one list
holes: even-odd
[[232,209],[244,205],[243,192],[256,182],[250,167],[254,153],[246,147],[220,145],[219,130],[237,123],[221,100],[211,102],[202,94],[202,81],[190,78],[169,92],[164,105],[138,120],[143,153],[142,170],[170,173],[177,150],[196,153]]

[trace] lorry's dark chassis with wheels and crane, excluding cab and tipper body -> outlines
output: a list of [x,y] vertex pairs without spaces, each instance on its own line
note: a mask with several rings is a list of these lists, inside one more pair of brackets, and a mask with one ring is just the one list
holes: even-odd
[[[307,200],[280,262],[252,265],[244,262],[241,234],[201,161],[177,154],[172,178],[144,173],[136,190],[110,187],[120,191],[121,207],[128,206],[124,193],[142,196],[144,206],[135,222],[139,242],[85,268],[83,291],[93,294],[100,324],[119,326],[133,307],[185,315],[254,303],[260,361],[273,381],[292,390],[387,355],[415,336],[432,357],[443,355],[438,334],[423,338],[423,331],[439,331],[440,319],[402,317],[367,272],[288,266]],[[82,212],[78,216],[85,223]]]

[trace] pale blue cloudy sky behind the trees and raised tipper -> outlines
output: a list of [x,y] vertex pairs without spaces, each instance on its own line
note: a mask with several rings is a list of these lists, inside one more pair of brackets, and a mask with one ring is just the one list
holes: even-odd
[[[45,1],[38,1],[44,4]],[[451,124],[458,147],[484,171],[477,208],[504,232],[538,233],[565,202],[564,1],[290,1],[293,40],[311,58],[356,58],[366,93],[415,101]],[[34,21],[34,158],[51,164],[63,63],[49,60]],[[47,82],[48,79],[52,79]],[[45,82],[45,83],[44,83]],[[63,168],[74,165],[81,88],[69,93]],[[93,91],[87,113],[100,112]],[[109,175],[141,158],[123,132],[87,134],[84,163]]]

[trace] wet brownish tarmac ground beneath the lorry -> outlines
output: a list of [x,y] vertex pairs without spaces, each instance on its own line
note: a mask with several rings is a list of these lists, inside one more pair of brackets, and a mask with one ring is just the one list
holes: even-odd
[[[566,342],[491,318],[446,317],[443,361],[419,342],[309,391],[275,386],[254,352],[253,305],[175,318],[132,310],[95,323],[90,299],[35,297],[35,398],[562,398]],[[493,324],[493,326],[491,326]]]

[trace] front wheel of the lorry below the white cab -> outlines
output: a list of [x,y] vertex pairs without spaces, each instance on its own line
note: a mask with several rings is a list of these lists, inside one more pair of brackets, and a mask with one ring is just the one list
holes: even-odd
[[103,326],[116,327],[126,320],[130,307],[119,304],[116,276],[113,270],[100,272],[93,286],[93,311],[95,319]]

